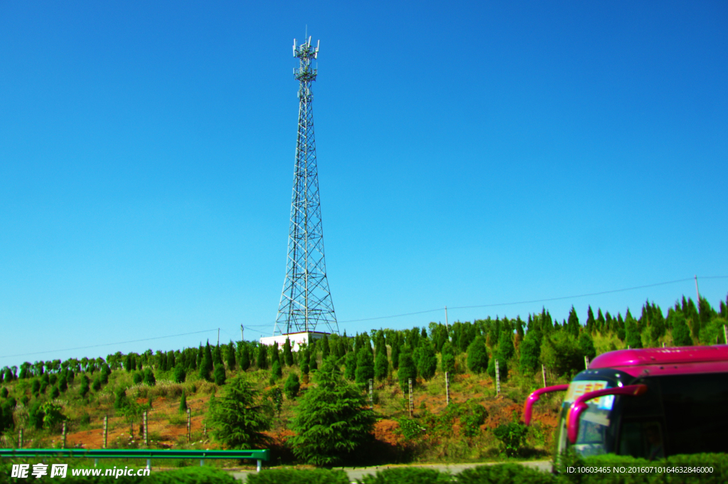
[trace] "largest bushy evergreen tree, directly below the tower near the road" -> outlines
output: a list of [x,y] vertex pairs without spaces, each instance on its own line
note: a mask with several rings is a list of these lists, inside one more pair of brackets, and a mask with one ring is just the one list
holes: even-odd
[[338,464],[371,440],[376,418],[357,386],[347,384],[331,358],[314,375],[293,419],[293,453],[317,466]]

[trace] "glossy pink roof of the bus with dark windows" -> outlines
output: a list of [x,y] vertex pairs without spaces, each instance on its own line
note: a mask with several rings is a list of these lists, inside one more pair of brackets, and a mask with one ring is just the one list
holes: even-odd
[[620,349],[600,354],[589,369],[614,368],[636,376],[652,374],[715,373],[728,371],[728,346],[677,346],[672,348]]

